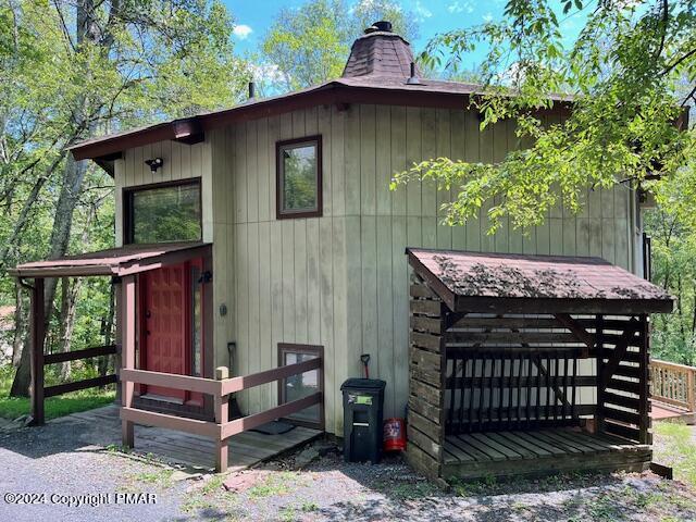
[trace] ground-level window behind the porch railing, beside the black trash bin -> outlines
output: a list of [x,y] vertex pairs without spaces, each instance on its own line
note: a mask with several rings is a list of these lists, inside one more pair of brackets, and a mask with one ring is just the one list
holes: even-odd
[[[278,366],[296,364],[298,362],[304,362],[310,359],[322,357],[323,351],[323,346],[278,343]],[[311,370],[309,372],[282,380],[278,385],[278,405],[301,399],[308,395],[321,391],[323,389],[321,375],[322,374],[319,370]],[[287,418],[287,420],[293,421],[295,424],[308,427],[323,428],[324,417],[322,405],[310,406],[297,413],[293,413]]]

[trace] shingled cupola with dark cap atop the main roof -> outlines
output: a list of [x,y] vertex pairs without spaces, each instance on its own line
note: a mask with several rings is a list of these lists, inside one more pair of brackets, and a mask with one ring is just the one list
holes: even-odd
[[411,46],[391,33],[391,23],[375,22],[353,41],[343,77],[370,75],[406,79],[411,75],[412,62]]

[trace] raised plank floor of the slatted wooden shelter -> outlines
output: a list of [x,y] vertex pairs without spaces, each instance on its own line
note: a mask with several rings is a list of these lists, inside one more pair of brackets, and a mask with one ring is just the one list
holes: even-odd
[[574,428],[469,433],[445,439],[443,477],[546,475],[575,471],[644,471],[652,451],[611,435]]

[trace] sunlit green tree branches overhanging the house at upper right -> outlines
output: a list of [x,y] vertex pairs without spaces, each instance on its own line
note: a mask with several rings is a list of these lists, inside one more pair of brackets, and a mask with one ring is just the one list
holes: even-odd
[[[646,176],[672,179],[682,172],[696,141],[694,130],[674,124],[696,92],[693,0],[577,0],[563,2],[563,11],[588,13],[570,49],[559,13],[546,0],[509,0],[501,22],[428,44],[422,59],[434,66],[485,47],[482,96],[472,99],[472,109],[483,115],[482,128],[515,121],[518,137],[532,145],[499,163],[426,160],[396,175],[393,189],[434,179],[439,189],[455,190],[458,196],[442,209],[451,225],[477,217],[495,199],[488,210],[493,233],[502,216],[522,228],[542,223],[561,202],[577,211],[587,187],[620,181],[635,186]],[[678,97],[684,78],[693,88]],[[547,117],[568,103],[568,119]],[[696,185],[694,171],[685,172],[685,183]]]

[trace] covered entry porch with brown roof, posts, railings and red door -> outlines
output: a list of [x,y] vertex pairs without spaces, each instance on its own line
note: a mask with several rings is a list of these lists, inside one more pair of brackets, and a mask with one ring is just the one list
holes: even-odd
[[[212,281],[211,264],[212,245],[196,241],[128,245],[16,266],[12,275],[20,278],[32,293],[34,423],[40,425],[45,422],[46,395],[117,382],[123,446],[134,447],[136,434],[146,433],[136,431],[136,424],[172,433],[183,432],[186,435],[174,439],[167,436],[164,439],[184,456],[187,447],[189,450],[208,452],[214,461],[214,468],[226,471],[231,462],[239,465],[237,456],[229,456],[229,447],[235,446],[231,444],[233,439],[249,438],[246,432],[314,405],[319,405],[320,412],[323,411],[321,355],[296,364],[234,377],[229,377],[227,366],[214,366],[213,300],[212,286],[209,285]],[[116,286],[115,346],[61,353],[58,359],[55,356],[47,357],[44,279],[85,276],[109,276]],[[61,389],[51,389],[58,386],[45,388],[46,364],[59,362],[59,359],[77,360],[109,353],[116,356],[117,375],[109,376],[103,382],[88,380],[61,385]],[[246,417],[231,413],[229,400],[234,394],[268,383],[277,382],[282,385],[288,377],[307,373],[314,375],[316,386],[300,398]],[[103,417],[101,413],[96,415]],[[276,436],[277,439],[287,438],[287,444],[294,442],[290,446],[276,442],[269,443],[264,448],[264,443],[260,443],[259,448],[251,452],[259,458],[268,458],[319,433],[319,430],[295,427],[288,435]],[[256,438],[259,436],[254,435]],[[144,443],[147,446],[151,440],[145,439]],[[240,456],[252,457],[249,451],[240,451]]]

